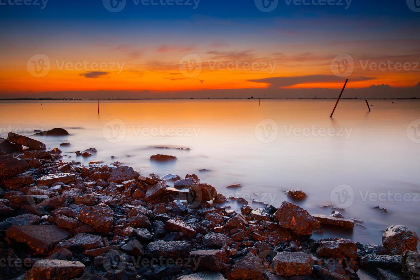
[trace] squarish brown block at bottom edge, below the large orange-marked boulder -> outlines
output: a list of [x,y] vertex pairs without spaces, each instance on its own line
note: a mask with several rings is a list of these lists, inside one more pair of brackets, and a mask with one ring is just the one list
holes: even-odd
[[283,277],[310,275],[312,257],[302,252],[281,252],[274,257],[273,265],[277,275]]

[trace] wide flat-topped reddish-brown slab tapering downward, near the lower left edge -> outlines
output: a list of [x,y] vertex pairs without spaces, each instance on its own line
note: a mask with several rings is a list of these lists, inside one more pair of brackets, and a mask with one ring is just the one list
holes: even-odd
[[56,225],[15,225],[6,231],[6,235],[26,243],[36,254],[47,253],[56,243],[71,236],[67,230]]

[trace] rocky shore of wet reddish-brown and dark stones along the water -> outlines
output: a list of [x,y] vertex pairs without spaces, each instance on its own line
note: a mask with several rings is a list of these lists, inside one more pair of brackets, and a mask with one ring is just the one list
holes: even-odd
[[[238,198],[235,212],[195,174],[83,166],[45,149],[15,133],[0,139],[0,279],[420,279],[417,237],[402,225],[386,228],[377,245],[315,241],[324,224],[354,221],[288,201],[253,209]],[[164,156],[151,160],[176,160]]]

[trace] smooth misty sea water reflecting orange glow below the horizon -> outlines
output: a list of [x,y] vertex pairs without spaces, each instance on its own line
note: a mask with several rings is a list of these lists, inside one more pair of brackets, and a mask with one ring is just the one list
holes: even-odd
[[[369,113],[365,100],[341,100],[330,119],[333,100],[100,101],[99,115],[96,101],[8,101],[0,102],[0,137],[7,138],[8,131],[30,136],[35,129],[65,128],[70,136],[33,138],[47,149],[59,147],[63,160],[84,165],[118,160],[144,175],[195,173],[219,193],[244,197],[253,208],[264,205],[252,199],[276,207],[288,200],[311,214],[330,215],[330,207],[320,207],[333,204],[338,190],[345,206],[340,212],[363,220],[366,228],[323,227],[323,234],[312,238],[380,244],[390,225],[420,234],[420,143],[415,140],[420,127],[409,126],[420,119],[420,102],[394,102],[370,100]],[[60,147],[63,142],[71,146]],[[90,147],[98,150],[92,157],[74,154]],[[153,154],[178,159],[151,162]],[[236,183],[242,187],[226,188]],[[336,188],[341,185],[350,188],[343,192]],[[284,191],[293,189],[308,198],[286,197]],[[372,209],[376,206],[389,214]]]

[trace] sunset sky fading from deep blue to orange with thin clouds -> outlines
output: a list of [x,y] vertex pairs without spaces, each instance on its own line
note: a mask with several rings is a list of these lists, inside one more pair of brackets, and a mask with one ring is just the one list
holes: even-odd
[[420,97],[409,1],[110,1],[0,0],[0,98]]

